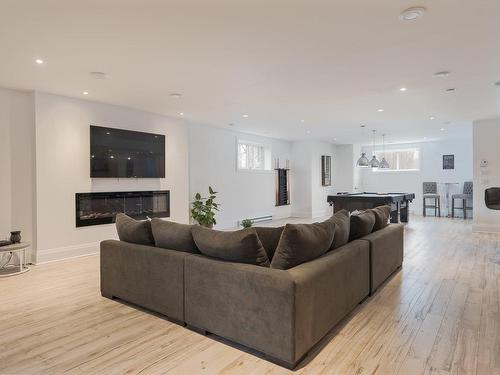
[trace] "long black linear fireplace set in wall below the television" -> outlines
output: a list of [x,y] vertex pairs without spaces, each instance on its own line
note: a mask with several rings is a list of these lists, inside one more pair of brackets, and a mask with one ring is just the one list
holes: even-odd
[[123,212],[136,219],[170,216],[170,191],[76,193],[76,226],[109,224]]

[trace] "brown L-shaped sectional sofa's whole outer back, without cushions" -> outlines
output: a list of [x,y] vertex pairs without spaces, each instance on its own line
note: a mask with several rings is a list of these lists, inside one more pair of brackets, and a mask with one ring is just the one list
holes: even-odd
[[400,224],[288,270],[108,240],[101,243],[101,292],[293,368],[402,260]]

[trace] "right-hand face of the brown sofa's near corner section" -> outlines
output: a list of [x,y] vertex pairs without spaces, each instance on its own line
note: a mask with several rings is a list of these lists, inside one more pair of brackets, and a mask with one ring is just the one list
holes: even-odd
[[295,356],[301,357],[369,294],[369,245],[355,240],[288,270],[295,285]]

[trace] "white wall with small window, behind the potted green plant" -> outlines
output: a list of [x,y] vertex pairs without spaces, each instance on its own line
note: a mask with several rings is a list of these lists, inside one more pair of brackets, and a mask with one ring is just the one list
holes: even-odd
[[[238,221],[245,218],[290,216],[290,206],[275,207],[274,170],[237,170],[238,137],[270,145],[272,159],[278,157],[281,167],[285,166],[286,159],[291,159],[290,142],[192,124],[189,131],[190,199],[192,200],[197,192],[206,195],[208,186],[219,192],[218,201],[221,207],[216,216],[217,228],[235,227]],[[272,167],[274,168],[274,163]],[[293,190],[291,199],[293,204]]]

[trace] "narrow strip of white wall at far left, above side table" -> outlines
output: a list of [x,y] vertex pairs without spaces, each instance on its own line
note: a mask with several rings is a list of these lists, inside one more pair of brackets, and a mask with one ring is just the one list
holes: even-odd
[[36,247],[34,142],[33,94],[0,89],[0,238],[20,230]]

